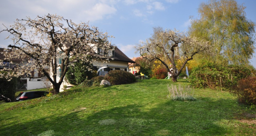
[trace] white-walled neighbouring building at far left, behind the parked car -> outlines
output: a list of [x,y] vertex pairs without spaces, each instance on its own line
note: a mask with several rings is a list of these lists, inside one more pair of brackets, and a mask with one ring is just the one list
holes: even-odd
[[[5,60],[5,56],[3,55],[3,52],[5,51],[10,54],[12,53],[12,50],[10,49],[0,48],[0,69],[14,69],[17,65],[24,66],[28,64],[28,61],[26,59],[22,59],[16,56],[14,56],[11,60]],[[30,79],[29,77],[33,77],[33,79]],[[50,82],[47,81],[46,77],[37,78],[41,77],[41,73],[37,69],[32,70],[29,73],[29,77],[20,78],[20,82],[17,85],[17,89],[31,90],[50,86]]]

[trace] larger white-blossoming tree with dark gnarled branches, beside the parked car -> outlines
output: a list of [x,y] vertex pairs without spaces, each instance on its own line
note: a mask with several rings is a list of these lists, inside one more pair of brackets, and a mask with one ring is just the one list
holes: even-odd
[[[14,25],[5,28],[0,33],[8,32],[10,35],[7,38],[13,40],[13,45],[8,46],[12,53],[5,52],[5,60],[18,57],[28,63],[17,65],[8,74],[1,74],[1,77],[26,76],[31,70],[37,69],[42,73],[41,77],[46,76],[52,83],[55,94],[59,93],[60,85],[71,65],[70,57],[79,56],[76,58],[85,61],[91,55],[107,58],[108,54],[95,55],[95,50],[113,50],[108,41],[111,36],[107,33],[100,32],[97,27],[90,27],[88,23],[76,24],[58,15],[17,19]],[[92,63],[97,59],[89,61]],[[61,69],[59,81],[56,78],[57,68]]]

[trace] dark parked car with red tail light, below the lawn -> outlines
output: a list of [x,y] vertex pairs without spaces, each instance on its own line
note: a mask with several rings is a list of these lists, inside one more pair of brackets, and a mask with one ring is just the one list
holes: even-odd
[[20,92],[18,97],[16,98],[17,101],[24,101],[24,100],[30,100],[35,99],[39,97],[43,97],[49,94],[47,91],[27,91],[27,92]]

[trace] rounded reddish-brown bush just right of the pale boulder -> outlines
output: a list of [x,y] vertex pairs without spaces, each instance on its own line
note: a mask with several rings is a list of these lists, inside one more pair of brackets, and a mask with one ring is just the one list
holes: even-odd
[[136,81],[136,77],[127,71],[123,70],[112,70],[109,71],[106,76],[106,80],[111,83],[111,85],[129,84]]

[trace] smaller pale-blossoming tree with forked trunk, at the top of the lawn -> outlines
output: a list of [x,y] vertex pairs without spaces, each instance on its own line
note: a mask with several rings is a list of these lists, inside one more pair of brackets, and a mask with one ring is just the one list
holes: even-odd
[[[146,42],[141,42],[135,47],[136,53],[140,53],[147,60],[159,60],[169,72],[170,62],[173,68],[172,81],[176,82],[178,75],[186,63],[193,59],[197,53],[211,53],[211,46],[208,41],[199,40],[195,37],[189,37],[185,33],[172,30],[163,30],[154,28],[154,34]],[[174,55],[177,57],[174,57]],[[184,57],[181,68],[176,72],[175,58]],[[166,61],[167,60],[167,61]]]

